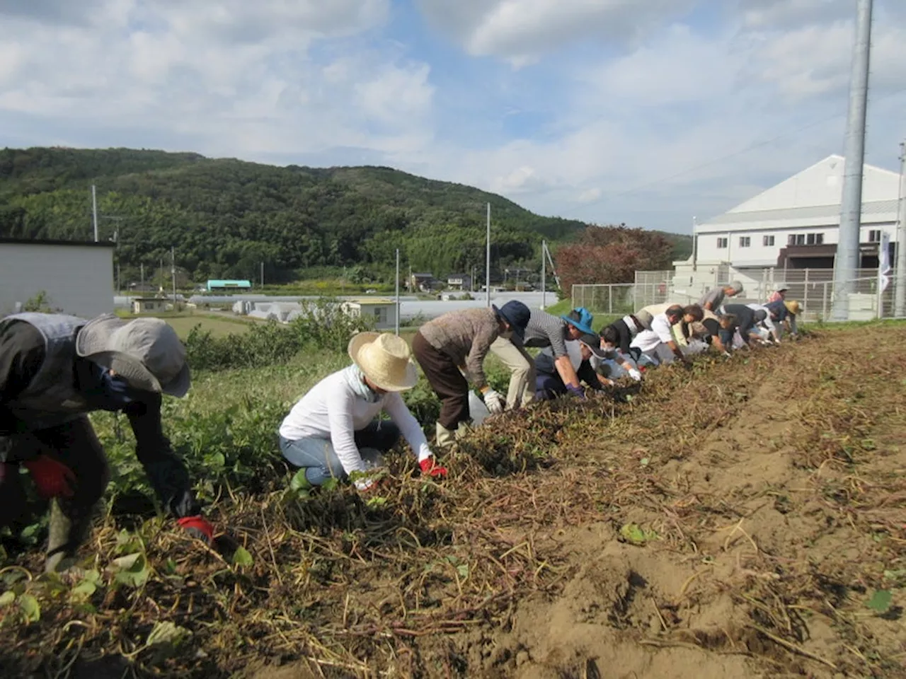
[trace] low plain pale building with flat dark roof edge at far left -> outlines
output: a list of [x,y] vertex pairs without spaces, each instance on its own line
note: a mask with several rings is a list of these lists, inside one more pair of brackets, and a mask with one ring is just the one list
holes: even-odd
[[43,293],[43,305],[82,318],[113,311],[112,243],[0,238],[0,315]]

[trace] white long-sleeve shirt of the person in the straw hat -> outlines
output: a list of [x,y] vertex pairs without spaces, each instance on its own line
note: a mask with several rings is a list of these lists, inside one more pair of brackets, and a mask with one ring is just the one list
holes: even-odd
[[425,433],[400,394],[373,395],[373,401],[366,399],[361,396],[361,393],[367,392],[362,388],[364,384],[360,374],[358,368],[350,366],[323,378],[284,417],[280,435],[290,441],[301,438],[330,439],[343,471],[365,472],[368,467],[361,459],[354,435],[383,410],[400,427],[400,433],[419,455],[419,460],[429,457],[431,449]]

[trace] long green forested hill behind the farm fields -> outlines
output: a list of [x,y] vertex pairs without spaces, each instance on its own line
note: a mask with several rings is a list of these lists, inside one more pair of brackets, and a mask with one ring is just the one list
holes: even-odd
[[[542,238],[571,238],[581,222],[535,215],[477,188],[388,167],[274,167],[194,153],[111,148],[0,151],[0,235],[92,237],[91,185],[101,237],[119,233],[123,277],[176,247],[195,280],[268,280],[353,266],[378,277],[400,248],[406,265],[443,275],[483,269],[491,204],[496,266],[538,260]],[[681,253],[681,252],[680,252]]]

